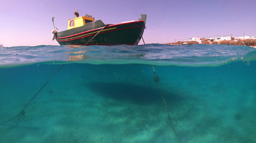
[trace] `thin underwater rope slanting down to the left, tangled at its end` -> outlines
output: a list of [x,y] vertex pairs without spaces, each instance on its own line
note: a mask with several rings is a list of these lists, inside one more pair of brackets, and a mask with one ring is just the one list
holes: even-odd
[[[55,71],[55,73],[53,74],[53,76],[55,76],[55,74],[57,74],[57,73],[59,72],[59,70],[61,70],[62,67],[64,67],[64,66],[65,66],[65,64],[62,64],[62,66],[61,66],[57,71]],[[11,126],[11,127],[9,127],[9,128],[4,128],[4,129],[15,128],[15,127],[18,125],[19,121],[20,121],[20,115],[23,116],[23,115],[25,114],[25,111],[24,111],[25,108],[28,107],[28,105],[32,102],[32,100],[34,100],[34,98],[39,94],[39,92],[44,88],[44,86],[47,85],[47,83],[53,78],[53,76],[50,77],[50,79],[47,80],[46,83],[44,83],[44,85],[43,85],[43,86],[39,89],[39,91],[31,98],[31,100],[29,100],[29,102],[25,105],[25,107],[22,108],[22,110],[20,111],[19,114],[17,114],[16,116],[14,116],[13,118],[11,118],[10,120],[7,120],[7,121],[5,121],[5,122],[3,122],[3,123],[0,123],[0,125]],[[17,123],[16,123],[15,125],[6,125],[6,124],[5,124],[5,123],[10,122],[11,120],[16,119],[17,117],[18,117],[18,120],[17,120]]]

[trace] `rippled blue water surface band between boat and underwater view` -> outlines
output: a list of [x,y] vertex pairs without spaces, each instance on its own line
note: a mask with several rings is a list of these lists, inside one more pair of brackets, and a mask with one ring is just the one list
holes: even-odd
[[256,50],[235,45],[16,46],[1,48],[0,66],[39,62],[219,66],[256,60]]

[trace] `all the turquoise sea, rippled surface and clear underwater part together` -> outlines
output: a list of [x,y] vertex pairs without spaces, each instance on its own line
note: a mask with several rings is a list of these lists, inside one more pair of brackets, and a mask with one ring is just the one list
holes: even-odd
[[0,48],[0,142],[256,142],[256,49]]

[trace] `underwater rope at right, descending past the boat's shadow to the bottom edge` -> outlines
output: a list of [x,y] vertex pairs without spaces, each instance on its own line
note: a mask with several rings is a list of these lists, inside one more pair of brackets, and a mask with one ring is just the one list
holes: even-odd
[[166,101],[164,100],[164,96],[162,95],[162,90],[161,90],[161,87],[160,87],[160,84],[159,84],[159,77],[156,76],[155,68],[154,68],[153,66],[152,66],[152,69],[153,69],[153,74],[154,74],[155,82],[158,83],[158,87],[159,87],[159,90],[160,90],[160,92],[161,92],[162,103],[163,103],[164,109],[165,109],[165,111],[166,111],[166,113],[167,113],[167,116],[168,116],[168,120],[169,120],[171,129],[173,130],[174,136],[176,137],[177,141],[178,141],[179,143],[181,143],[181,142],[180,142],[180,139],[179,139],[179,136],[177,135],[176,129],[175,129],[174,126],[173,126],[173,121],[171,120],[171,116],[170,116],[170,114],[169,114],[169,112],[168,112],[168,108],[167,108]]

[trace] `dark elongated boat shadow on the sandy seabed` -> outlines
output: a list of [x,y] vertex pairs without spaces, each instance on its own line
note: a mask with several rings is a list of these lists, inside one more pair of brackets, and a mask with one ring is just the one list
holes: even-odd
[[162,103],[161,92],[168,101],[167,104],[177,104],[178,102],[189,100],[173,90],[160,91],[158,85],[150,87],[124,82],[89,82],[86,86],[88,86],[92,92],[95,92],[102,97],[119,101],[130,101],[135,104],[144,105],[155,104],[156,102]]

